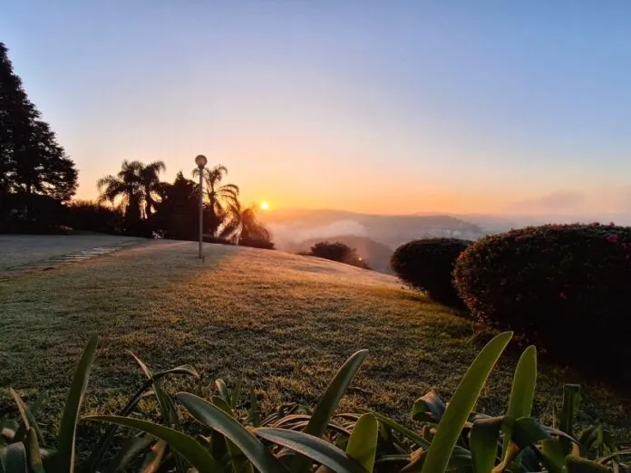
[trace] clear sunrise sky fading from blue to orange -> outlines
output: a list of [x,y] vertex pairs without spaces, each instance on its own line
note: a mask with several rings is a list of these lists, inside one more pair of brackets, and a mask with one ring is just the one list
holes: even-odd
[[203,153],[271,208],[631,208],[626,0],[0,3],[79,198]]

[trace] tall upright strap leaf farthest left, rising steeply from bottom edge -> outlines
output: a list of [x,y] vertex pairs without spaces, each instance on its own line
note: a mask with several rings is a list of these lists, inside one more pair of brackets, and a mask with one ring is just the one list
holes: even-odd
[[83,395],[88,386],[90,369],[96,353],[99,335],[94,334],[83,350],[81,360],[74,372],[73,383],[63,407],[62,423],[57,433],[57,453],[54,456],[55,470],[73,473],[74,471],[74,438],[76,436],[79,410],[83,403]]

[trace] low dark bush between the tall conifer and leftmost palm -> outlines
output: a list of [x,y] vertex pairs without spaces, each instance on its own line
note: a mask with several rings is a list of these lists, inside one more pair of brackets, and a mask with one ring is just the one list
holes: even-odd
[[121,235],[122,212],[89,200],[77,200],[67,208],[66,225],[73,230]]

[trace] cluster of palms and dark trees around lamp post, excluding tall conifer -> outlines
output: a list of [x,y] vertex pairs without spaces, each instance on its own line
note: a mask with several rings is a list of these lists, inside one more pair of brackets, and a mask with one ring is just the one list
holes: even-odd
[[[180,171],[173,183],[160,180],[166,170],[162,161],[143,164],[123,161],[116,175],[99,179],[99,198],[94,207],[103,212],[103,204],[120,218],[120,231],[134,236],[160,236],[196,240],[199,231],[199,183]],[[193,177],[199,177],[199,169]],[[206,241],[273,248],[271,235],[257,219],[255,207],[245,207],[238,198],[239,188],[222,181],[228,169],[219,164],[201,169],[204,181],[203,234]],[[74,208],[79,207],[76,204]],[[85,228],[93,229],[93,228]]]

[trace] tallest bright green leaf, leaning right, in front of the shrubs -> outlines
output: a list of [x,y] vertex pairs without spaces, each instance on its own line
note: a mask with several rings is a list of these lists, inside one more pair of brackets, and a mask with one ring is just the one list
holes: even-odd
[[471,414],[491,370],[511,337],[511,332],[500,333],[494,337],[471,364],[438,424],[432,446],[422,467],[423,473],[442,473],[447,468],[451,451],[461,435],[462,426]]

